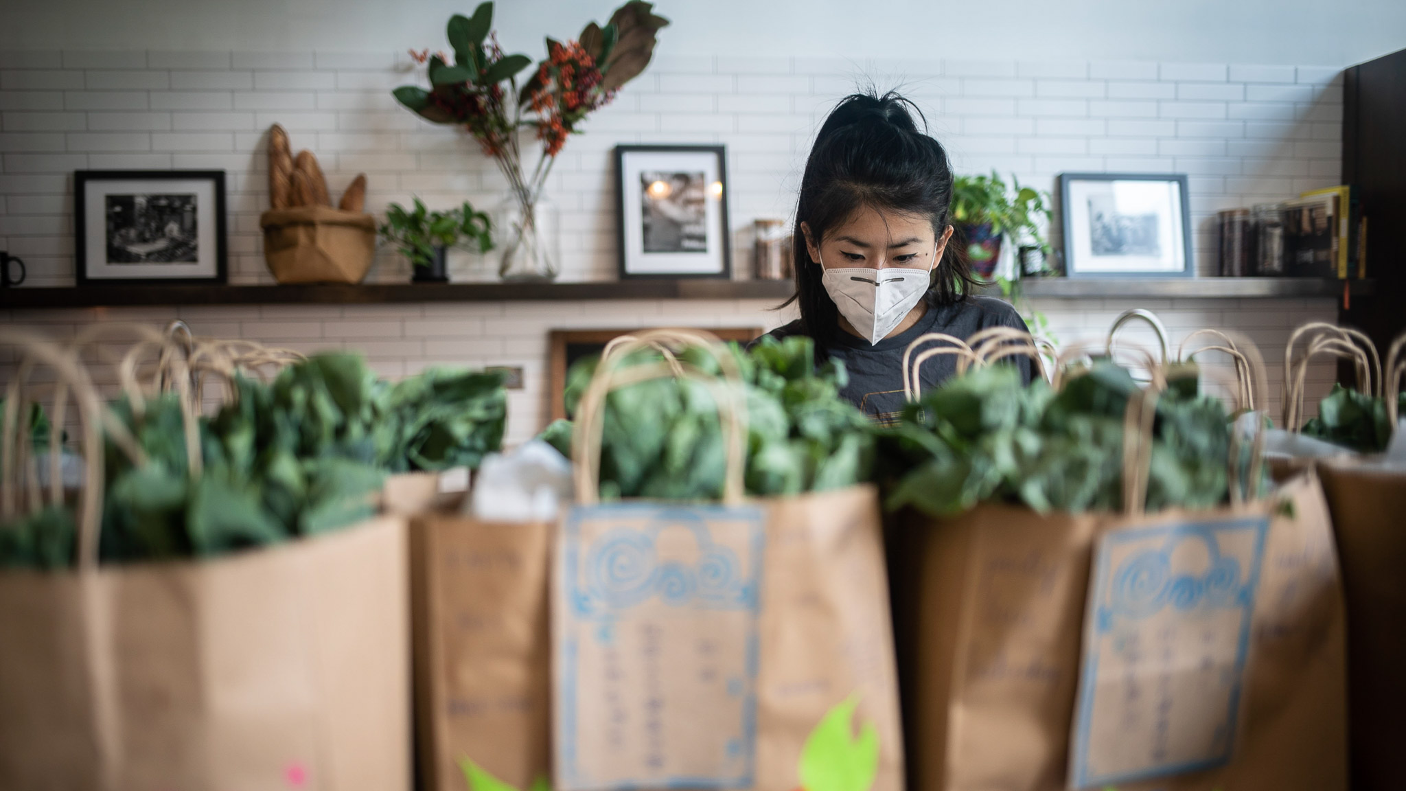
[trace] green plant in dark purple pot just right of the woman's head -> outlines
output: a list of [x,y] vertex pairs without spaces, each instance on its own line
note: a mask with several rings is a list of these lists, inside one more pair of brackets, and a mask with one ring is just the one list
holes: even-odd
[[1007,186],[995,170],[990,176],[957,176],[952,187],[952,218],[957,238],[966,245],[972,272],[990,279],[1001,258],[1001,241],[1035,248],[1040,255],[1050,252],[1036,218],[1049,222],[1049,193],[1022,187],[1012,175]]

